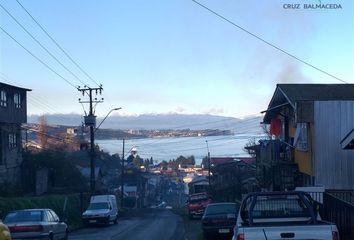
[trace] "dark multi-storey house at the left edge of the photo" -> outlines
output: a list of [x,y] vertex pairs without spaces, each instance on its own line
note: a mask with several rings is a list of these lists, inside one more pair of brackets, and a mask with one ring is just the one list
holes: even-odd
[[27,122],[27,91],[0,82],[0,183],[21,180],[21,124]]

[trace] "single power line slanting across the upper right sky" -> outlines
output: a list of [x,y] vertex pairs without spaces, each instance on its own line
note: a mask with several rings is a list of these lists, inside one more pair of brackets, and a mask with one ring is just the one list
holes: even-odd
[[261,42],[263,42],[263,43],[265,43],[265,44],[271,46],[272,48],[275,48],[276,50],[278,50],[278,51],[280,51],[280,52],[282,52],[282,53],[288,55],[289,57],[291,57],[291,58],[293,58],[293,59],[295,59],[295,60],[297,60],[297,61],[299,61],[299,62],[301,62],[301,63],[303,63],[303,64],[305,64],[305,65],[307,65],[307,66],[309,66],[309,67],[311,67],[311,68],[313,68],[313,69],[315,69],[315,70],[317,70],[317,71],[319,71],[319,72],[321,72],[321,73],[323,73],[323,74],[325,74],[325,75],[327,75],[327,76],[329,76],[329,77],[332,77],[332,78],[334,78],[334,79],[337,79],[338,81],[340,81],[340,82],[342,82],[342,83],[348,83],[347,81],[344,81],[343,79],[341,79],[341,78],[339,78],[339,77],[336,77],[336,76],[334,76],[333,74],[330,74],[330,73],[326,72],[325,70],[322,70],[322,69],[320,69],[319,67],[316,67],[316,66],[314,66],[313,64],[311,64],[311,63],[309,63],[309,62],[307,62],[307,61],[305,61],[305,60],[300,59],[299,57],[297,57],[297,56],[295,56],[295,55],[293,55],[293,54],[287,52],[286,50],[284,50],[284,49],[282,49],[282,48],[280,48],[280,47],[274,45],[273,43],[268,42],[267,40],[265,40],[265,39],[261,38],[260,36],[258,36],[258,35],[256,35],[256,34],[250,32],[250,31],[248,31],[248,30],[245,29],[244,27],[241,27],[240,25],[238,25],[238,24],[232,22],[231,20],[229,20],[229,19],[227,19],[226,17],[222,16],[221,14],[215,12],[214,10],[208,8],[207,6],[201,4],[200,2],[198,2],[198,1],[196,1],[196,0],[191,0],[191,1],[193,1],[193,2],[196,3],[196,4],[198,4],[198,5],[201,6],[202,8],[208,10],[209,12],[213,13],[214,15],[218,16],[219,18],[225,20],[226,22],[230,23],[231,25],[237,27],[238,29],[244,31],[245,33],[251,35],[252,37],[254,37],[254,38],[260,40]]

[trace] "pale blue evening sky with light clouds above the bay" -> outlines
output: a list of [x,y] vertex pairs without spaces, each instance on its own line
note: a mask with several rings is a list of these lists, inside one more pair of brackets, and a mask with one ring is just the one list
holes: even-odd
[[[32,89],[28,114],[83,114],[87,105],[78,102],[83,97],[74,87],[83,83],[103,85],[98,116],[122,107],[114,114],[231,117],[265,110],[277,83],[354,83],[351,0],[199,0],[340,80],[192,0],[18,1],[94,80],[53,44],[16,0],[0,0],[1,28],[42,61],[0,30],[0,81]],[[342,8],[303,9],[303,4],[319,2]],[[285,9],[284,4],[300,4],[302,9]]]

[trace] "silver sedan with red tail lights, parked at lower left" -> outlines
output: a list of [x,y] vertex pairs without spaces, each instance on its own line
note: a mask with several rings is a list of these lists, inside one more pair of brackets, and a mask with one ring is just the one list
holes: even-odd
[[4,223],[15,239],[68,239],[68,226],[51,209],[26,209],[9,212]]

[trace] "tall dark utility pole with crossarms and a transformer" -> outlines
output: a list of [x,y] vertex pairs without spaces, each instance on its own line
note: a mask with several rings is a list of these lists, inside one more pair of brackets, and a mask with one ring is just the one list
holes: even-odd
[[[96,116],[94,114],[93,103],[100,103],[103,102],[103,98],[97,99],[97,95],[101,95],[103,88],[102,85],[98,88],[90,88],[85,86],[84,88],[78,88],[78,90],[82,93],[82,96],[89,97],[88,101],[81,101],[79,98],[80,103],[89,103],[90,110],[89,114],[85,116],[85,126],[90,127],[90,191],[91,194],[95,192],[95,127],[96,127]],[[96,97],[93,98],[92,93],[96,93]]]

